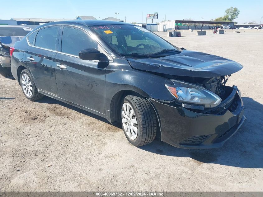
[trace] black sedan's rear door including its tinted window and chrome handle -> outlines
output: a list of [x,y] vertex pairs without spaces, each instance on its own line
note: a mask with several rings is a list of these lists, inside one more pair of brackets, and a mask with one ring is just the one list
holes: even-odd
[[41,91],[58,95],[55,77],[55,57],[58,48],[60,26],[49,26],[38,30],[26,52],[26,63]]

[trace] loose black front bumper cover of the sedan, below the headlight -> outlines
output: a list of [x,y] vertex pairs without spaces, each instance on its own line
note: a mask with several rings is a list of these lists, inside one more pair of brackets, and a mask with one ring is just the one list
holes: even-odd
[[150,99],[157,110],[161,140],[178,148],[220,148],[241,127],[246,117],[237,87],[215,109],[198,113]]

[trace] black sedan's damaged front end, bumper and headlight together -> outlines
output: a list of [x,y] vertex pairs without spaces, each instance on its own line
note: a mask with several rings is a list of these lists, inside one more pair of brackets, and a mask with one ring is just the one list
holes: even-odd
[[161,140],[179,148],[222,147],[246,119],[241,93],[226,86],[228,77],[173,77],[166,87],[174,100],[150,99]]

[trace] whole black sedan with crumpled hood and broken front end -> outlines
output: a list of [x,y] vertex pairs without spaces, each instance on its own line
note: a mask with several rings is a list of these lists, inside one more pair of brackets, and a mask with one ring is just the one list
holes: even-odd
[[161,140],[218,148],[244,120],[227,86],[243,66],[178,48],[133,24],[73,20],[42,25],[16,42],[12,74],[30,101],[44,95],[120,123],[134,146]]

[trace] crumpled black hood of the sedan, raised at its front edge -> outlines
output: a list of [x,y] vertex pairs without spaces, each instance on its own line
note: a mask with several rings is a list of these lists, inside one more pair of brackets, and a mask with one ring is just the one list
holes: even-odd
[[135,69],[188,77],[226,76],[243,68],[241,64],[230,59],[190,50],[161,58],[127,60]]

